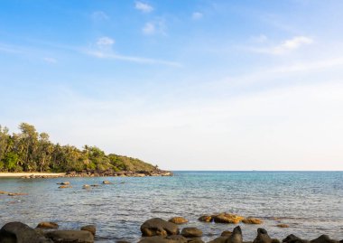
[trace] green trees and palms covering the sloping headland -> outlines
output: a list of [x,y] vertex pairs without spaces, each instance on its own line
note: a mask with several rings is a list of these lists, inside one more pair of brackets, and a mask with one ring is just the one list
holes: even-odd
[[106,154],[97,146],[54,144],[47,133],[39,133],[27,123],[19,125],[19,133],[9,133],[0,126],[0,172],[81,172],[81,171],[145,171],[157,166],[118,154]]

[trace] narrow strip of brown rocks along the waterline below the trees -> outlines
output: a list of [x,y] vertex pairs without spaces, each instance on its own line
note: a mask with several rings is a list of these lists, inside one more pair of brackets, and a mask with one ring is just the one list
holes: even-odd
[[145,176],[172,176],[173,173],[170,171],[162,171],[162,170],[155,170],[155,171],[123,171],[123,172],[115,172],[115,171],[94,171],[94,170],[84,170],[82,172],[68,172],[63,174],[29,174],[22,176],[23,179],[31,179],[31,178],[60,178],[60,177],[145,177]]

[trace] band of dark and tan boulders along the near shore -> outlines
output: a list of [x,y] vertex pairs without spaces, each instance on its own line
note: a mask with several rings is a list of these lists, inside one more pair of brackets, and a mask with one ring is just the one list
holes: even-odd
[[[223,216],[224,215],[224,216]],[[227,215],[230,215],[229,217]],[[232,214],[220,213],[219,218],[237,219]],[[243,218],[243,217],[241,217]],[[199,218],[199,220],[204,218]],[[249,218],[248,218],[249,219]],[[239,220],[244,222],[243,220]],[[141,226],[142,238],[138,243],[204,243],[202,231],[194,227],[179,228],[179,225],[188,220],[182,217],[174,217],[168,221],[160,218],[146,220]],[[235,223],[233,221],[218,221],[218,223]],[[247,220],[245,223],[259,224],[261,221]],[[80,229],[59,229],[55,222],[41,222],[35,229],[21,222],[6,223],[0,229],[0,243],[93,243],[96,242],[96,226],[86,225]],[[240,226],[236,226],[232,232],[223,231],[218,237],[209,240],[208,243],[343,243],[342,240],[329,238],[321,235],[319,238],[303,239],[295,235],[288,235],[279,240],[271,238],[266,229],[258,228],[253,241],[244,241]],[[125,240],[117,240],[116,243],[130,243]]]

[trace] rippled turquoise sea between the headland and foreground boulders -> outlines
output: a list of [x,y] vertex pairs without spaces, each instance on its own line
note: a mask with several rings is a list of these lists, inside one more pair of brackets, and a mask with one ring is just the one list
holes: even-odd
[[[83,190],[83,184],[101,184]],[[73,188],[58,189],[69,181]],[[97,225],[96,242],[126,239],[136,242],[144,220],[182,216],[182,227],[198,227],[203,239],[215,238],[234,225],[203,223],[202,214],[232,212],[264,220],[260,226],[240,224],[244,240],[263,227],[273,238],[295,234],[343,238],[343,172],[175,172],[172,177],[98,177],[57,179],[0,179],[0,227],[19,220],[31,227],[56,221],[61,229]],[[274,218],[278,218],[275,220]],[[290,225],[279,229],[276,224]]]

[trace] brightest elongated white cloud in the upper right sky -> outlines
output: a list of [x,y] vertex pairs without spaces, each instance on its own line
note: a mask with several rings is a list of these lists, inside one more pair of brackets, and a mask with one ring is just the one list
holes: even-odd
[[267,53],[273,55],[282,55],[290,51],[295,51],[303,45],[313,43],[313,39],[306,36],[295,36],[290,40],[285,40],[281,44],[266,48],[251,48],[250,50],[260,53]]

